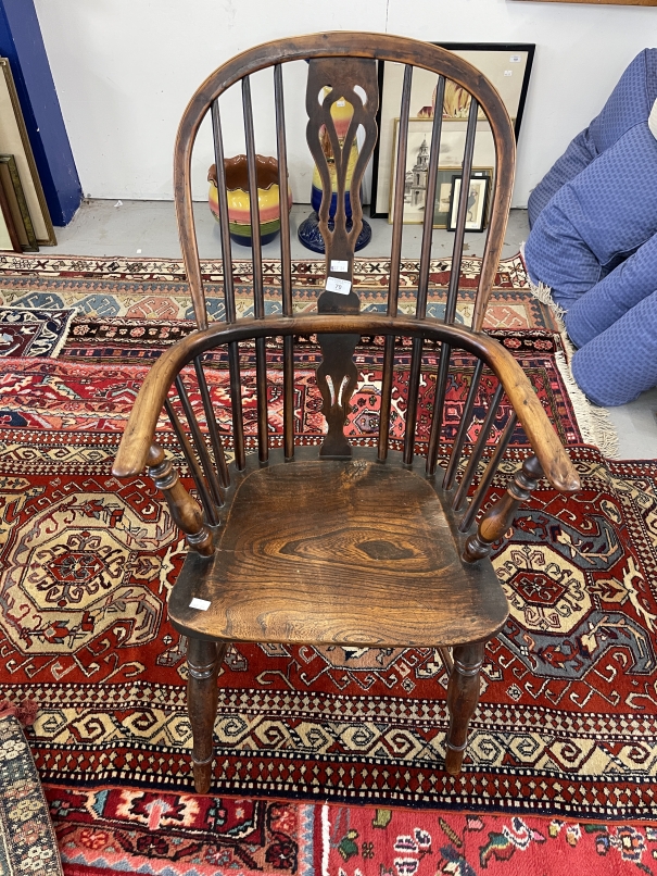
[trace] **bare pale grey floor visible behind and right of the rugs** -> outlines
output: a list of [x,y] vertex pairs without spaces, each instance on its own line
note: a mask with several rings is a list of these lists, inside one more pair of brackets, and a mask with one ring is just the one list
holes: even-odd
[[[194,205],[199,250],[202,259],[220,258],[218,225],[205,203]],[[308,215],[309,207],[295,204],[290,215],[292,258],[319,258],[305,249],[296,238],[296,229]],[[367,209],[366,209],[367,216]],[[372,238],[361,255],[386,256],[390,252],[391,228],[387,220],[367,220]],[[142,258],[179,259],[180,246],[176,215],[170,201],[86,201],[73,222],[56,228],[58,246],[49,247],[48,254],[67,255],[137,255]],[[503,255],[515,255],[527,239],[529,226],[527,211],[511,210]],[[481,255],[484,234],[466,235],[466,248],[472,255]],[[404,226],[403,255],[419,256],[421,226]],[[450,255],[452,235],[433,233],[434,258]],[[250,258],[250,249],[233,245],[233,258]],[[267,259],[280,258],[278,239],[263,247]],[[620,459],[657,459],[657,388],[644,392],[636,401],[608,411],[619,438]]]

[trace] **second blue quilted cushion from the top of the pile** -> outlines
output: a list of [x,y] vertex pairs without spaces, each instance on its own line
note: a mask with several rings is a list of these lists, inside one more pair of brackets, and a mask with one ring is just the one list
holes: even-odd
[[566,183],[526,246],[534,281],[569,309],[657,233],[657,140],[641,122]]

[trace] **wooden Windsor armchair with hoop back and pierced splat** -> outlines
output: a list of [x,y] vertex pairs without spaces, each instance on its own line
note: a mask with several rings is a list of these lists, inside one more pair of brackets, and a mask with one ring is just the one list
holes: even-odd
[[[307,143],[323,182],[319,210],[326,245],[326,288],[317,313],[295,315],[287,207],[288,157],[282,67],[305,59]],[[354,245],[362,224],[358,197],[353,216],[344,210],[348,161],[356,130],[364,137],[351,191],[358,192],[377,137],[377,63],[404,64],[400,139],[395,167],[394,224],[384,314],[361,312],[353,287]],[[460,187],[445,317],[427,316],[432,211],[426,211],[416,312],[399,312],[402,214],[414,67],[435,74],[435,105],[445,82],[471,95],[463,159],[470,177],[477,117],[483,110],[493,134],[496,167],[490,226],[473,306],[472,324],[457,320],[468,186]],[[281,215],[281,315],[265,315],[258,231],[256,160],[250,77],[271,68],[276,110]],[[224,167],[219,97],[241,84],[253,235],[253,317],[236,315],[232,256]],[[331,105],[353,108],[343,139]],[[191,199],[192,147],[204,116],[213,122],[224,265],[225,318],[209,320]],[[433,120],[426,202],[435,201],[442,113]],[[321,140],[331,145],[338,197],[329,221],[330,170]],[[188,637],[188,710],[193,731],[193,776],[199,792],[212,780],[217,673],[230,642],[289,642],[359,647],[438,648],[450,674],[445,766],[462,767],[468,722],[479,697],[479,671],[487,641],[502,628],[507,601],[488,559],[515,510],[541,476],[564,492],[579,488],[567,453],[528,378],[497,341],[482,333],[487,302],[498,264],[515,164],[511,125],[497,92],[470,64],[451,52],[387,35],[334,33],[260,46],[228,61],[192,97],[180,123],[174,177],[178,226],[198,330],[164,353],[146,378],[127,424],[114,474],[139,474],[144,466],[163,491],[170,514],[187,536],[189,552],[174,585],[169,618]],[[340,283],[336,284],[336,280]],[[332,291],[339,289],[339,291]],[[326,434],[319,452],[298,447],[294,411],[295,342],[315,337],[321,350],[316,380]],[[357,384],[354,350],[362,336],[383,338],[378,435],[371,447],[352,447],[345,436],[350,399]],[[410,339],[405,435],[391,438],[391,391],[399,343]],[[440,349],[426,459],[416,452],[418,387],[426,345]],[[269,418],[267,398],[271,349],[282,356],[282,436]],[[223,350],[231,390],[230,430],[217,425],[209,388],[212,355]],[[444,402],[453,350],[477,361],[455,436],[445,438]],[[211,353],[212,351],[212,353]],[[251,352],[250,352],[251,351]],[[244,425],[240,356],[254,355],[257,384],[255,437]],[[468,439],[480,379],[490,370],[497,389],[489,400],[478,439]],[[496,445],[492,426],[506,393],[513,412]],[[193,478],[200,505],[178,478],[157,443],[165,409]],[[532,451],[510,479],[504,497],[480,515],[488,488],[520,421]],[[162,436],[165,433],[160,433]],[[256,452],[249,452],[250,441]],[[355,442],[362,445],[363,441]],[[282,445],[282,447],[276,447]],[[394,449],[400,447],[401,449]],[[231,459],[232,458],[232,459]],[[470,497],[470,498],[468,498]],[[477,522],[480,516],[479,522]]]

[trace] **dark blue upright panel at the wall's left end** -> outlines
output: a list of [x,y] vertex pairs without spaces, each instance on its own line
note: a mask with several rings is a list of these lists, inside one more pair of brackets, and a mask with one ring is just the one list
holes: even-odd
[[83,189],[33,0],[0,0],[0,54],[9,59],[54,225],[67,225]]

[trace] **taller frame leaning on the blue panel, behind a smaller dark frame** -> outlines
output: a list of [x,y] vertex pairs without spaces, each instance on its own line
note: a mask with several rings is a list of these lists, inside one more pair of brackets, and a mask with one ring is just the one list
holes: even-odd
[[55,246],[54,228],[7,58],[0,58],[0,153],[14,157],[37,243]]

